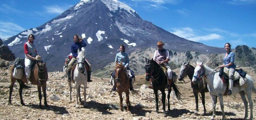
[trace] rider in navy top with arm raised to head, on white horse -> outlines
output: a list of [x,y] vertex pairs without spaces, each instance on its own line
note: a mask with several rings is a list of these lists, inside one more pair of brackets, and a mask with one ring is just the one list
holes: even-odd
[[[71,81],[71,69],[72,66],[74,65],[74,62],[76,62],[76,57],[78,56],[78,49],[82,50],[82,47],[85,47],[87,44],[84,42],[84,40],[82,38],[79,38],[78,35],[74,35],[73,36],[74,39],[74,44],[71,45],[71,53],[73,55],[72,59],[70,60],[70,62],[68,63],[68,70],[67,70],[67,74],[68,74],[68,82]],[[91,78],[91,64],[85,60],[85,64],[86,66],[88,66],[88,71],[87,71],[87,82],[92,82]]]

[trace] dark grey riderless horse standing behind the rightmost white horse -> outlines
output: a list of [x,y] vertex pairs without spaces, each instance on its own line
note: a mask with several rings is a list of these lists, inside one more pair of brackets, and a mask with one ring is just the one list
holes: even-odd
[[[179,74],[179,77],[178,77],[178,80],[179,81],[182,81],[184,79],[185,76],[188,76],[190,81],[192,80],[193,78],[193,75],[194,75],[194,67],[191,66],[189,64],[189,62],[187,64],[183,64],[180,68],[180,74]],[[204,90],[204,86],[203,84],[200,84],[198,86],[198,84],[192,84],[191,82],[191,87],[193,89],[193,93],[194,93],[194,96],[195,96],[195,99],[196,99],[196,111],[195,111],[195,115],[198,115],[198,93],[200,92],[201,95],[202,95],[202,104],[204,106],[204,114],[206,114],[206,109],[205,109],[205,95],[204,95],[204,92],[207,92],[207,90],[205,91]]]

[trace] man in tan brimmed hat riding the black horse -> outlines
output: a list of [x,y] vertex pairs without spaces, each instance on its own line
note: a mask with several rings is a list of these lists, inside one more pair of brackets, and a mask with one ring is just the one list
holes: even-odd
[[155,51],[153,60],[155,60],[158,64],[164,64],[167,67],[167,74],[168,74],[168,80],[167,80],[167,89],[171,89],[171,82],[172,82],[172,70],[170,66],[168,66],[168,61],[170,60],[169,52],[168,50],[163,48],[164,43],[162,41],[157,42],[158,50]]

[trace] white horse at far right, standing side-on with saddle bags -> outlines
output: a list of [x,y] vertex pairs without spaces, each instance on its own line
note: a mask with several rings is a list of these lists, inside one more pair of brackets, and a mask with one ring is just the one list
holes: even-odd
[[[205,79],[208,84],[208,90],[210,92],[210,95],[212,97],[212,118],[216,116],[216,102],[217,97],[220,101],[220,108],[222,110],[222,120],[225,119],[225,113],[224,113],[224,104],[223,104],[223,94],[226,91],[227,84],[222,82],[222,79],[219,77],[219,72],[212,72],[213,69],[209,68],[206,65],[203,65],[203,62],[197,63],[197,66],[194,70],[194,76],[192,78],[192,82],[196,83],[200,79]],[[252,103],[252,92],[256,93],[256,88],[254,87],[253,79],[251,76],[246,75],[246,83],[242,86],[234,86],[232,89],[231,95],[240,94],[242,101],[244,102],[245,106],[245,115],[244,119],[248,117],[248,102],[246,100],[245,95],[248,98],[249,104],[250,104],[250,120],[253,119],[253,103]]]

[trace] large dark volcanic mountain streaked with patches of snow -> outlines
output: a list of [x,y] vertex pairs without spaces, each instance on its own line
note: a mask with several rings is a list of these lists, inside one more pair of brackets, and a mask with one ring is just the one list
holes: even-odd
[[127,46],[128,53],[156,46],[158,40],[172,51],[223,52],[221,48],[186,40],[163,30],[117,0],[82,0],[56,18],[5,39],[4,43],[16,57],[24,58],[23,44],[32,33],[36,37],[38,54],[47,62],[49,71],[62,70],[75,34],[88,43],[86,59],[92,64],[92,70],[112,62],[120,44]]

